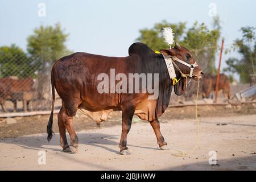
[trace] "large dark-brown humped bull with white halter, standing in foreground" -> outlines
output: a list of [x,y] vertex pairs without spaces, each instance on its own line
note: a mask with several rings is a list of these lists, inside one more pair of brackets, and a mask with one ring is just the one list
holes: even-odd
[[[163,49],[161,52],[166,57],[175,56],[187,64],[194,64],[195,60],[191,52],[176,44],[175,48]],[[180,71],[189,74],[191,69],[184,64],[175,61]],[[102,80],[98,76],[102,73],[111,77],[111,69],[115,73],[121,73],[122,76],[129,77],[130,73],[158,74],[159,81],[157,88],[158,97],[152,100],[148,99],[151,93],[142,92],[142,83],[140,82],[139,93],[127,93],[123,90],[121,93],[99,93],[98,85]],[[181,95],[185,92],[187,86],[187,77],[181,77],[181,73],[175,68],[177,78],[181,78],[174,86],[175,93]],[[199,67],[193,69],[193,78],[201,78]],[[148,81],[148,80],[147,80]],[[134,43],[129,48],[127,57],[106,57],[92,55],[89,53],[77,52],[72,55],[61,58],[56,61],[51,72],[52,84],[52,112],[47,125],[48,141],[51,140],[53,109],[55,102],[55,90],[62,100],[62,106],[58,114],[58,125],[60,131],[60,145],[64,152],[77,152],[79,139],[73,127],[73,117],[79,109],[82,113],[94,119],[97,123],[106,121],[112,111],[122,111],[122,134],[119,143],[120,152],[123,155],[129,155],[126,139],[131,129],[133,115],[150,122],[154,129],[157,142],[162,150],[167,150],[167,143],[164,141],[160,132],[158,118],[164,113],[169,102],[172,91],[172,79],[168,75],[166,63],[162,54],[156,54],[148,46],[142,43]],[[129,87],[130,82],[127,82]],[[154,84],[152,84],[154,85]],[[124,85],[123,85],[124,86]],[[111,87],[111,86],[110,86]],[[66,129],[71,137],[71,146],[68,145],[65,134]]]

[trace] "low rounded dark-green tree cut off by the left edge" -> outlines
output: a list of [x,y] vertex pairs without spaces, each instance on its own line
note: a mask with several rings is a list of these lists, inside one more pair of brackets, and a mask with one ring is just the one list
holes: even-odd
[[26,53],[12,44],[0,47],[0,77],[34,77],[35,68]]

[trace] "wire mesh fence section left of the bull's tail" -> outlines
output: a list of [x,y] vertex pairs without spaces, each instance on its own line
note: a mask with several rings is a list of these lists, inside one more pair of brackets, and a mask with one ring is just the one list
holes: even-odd
[[44,60],[52,59],[0,54],[0,113],[50,109],[51,64]]

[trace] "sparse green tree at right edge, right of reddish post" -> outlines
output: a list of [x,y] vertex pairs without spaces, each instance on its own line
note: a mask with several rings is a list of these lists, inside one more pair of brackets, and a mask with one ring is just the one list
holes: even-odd
[[250,82],[250,75],[255,74],[256,65],[256,41],[255,27],[242,27],[242,38],[234,41],[234,49],[238,49],[241,59],[230,57],[226,60],[228,67],[224,69],[226,72],[238,73],[240,81],[244,83]]

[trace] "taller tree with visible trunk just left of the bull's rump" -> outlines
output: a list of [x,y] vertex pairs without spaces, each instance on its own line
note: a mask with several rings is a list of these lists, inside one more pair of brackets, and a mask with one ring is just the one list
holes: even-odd
[[60,24],[40,26],[34,34],[28,36],[27,51],[37,70],[38,98],[49,99],[51,95],[50,71],[52,64],[61,57],[71,53],[65,46],[68,34],[61,29]]

